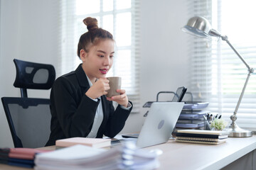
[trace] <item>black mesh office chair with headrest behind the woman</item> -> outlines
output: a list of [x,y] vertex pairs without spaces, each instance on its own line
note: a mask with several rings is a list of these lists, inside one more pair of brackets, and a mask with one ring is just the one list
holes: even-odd
[[21,97],[1,98],[14,147],[44,147],[50,136],[50,99],[28,98],[27,89],[50,89],[55,69],[50,64],[16,59],[14,63],[14,86],[21,89]]

